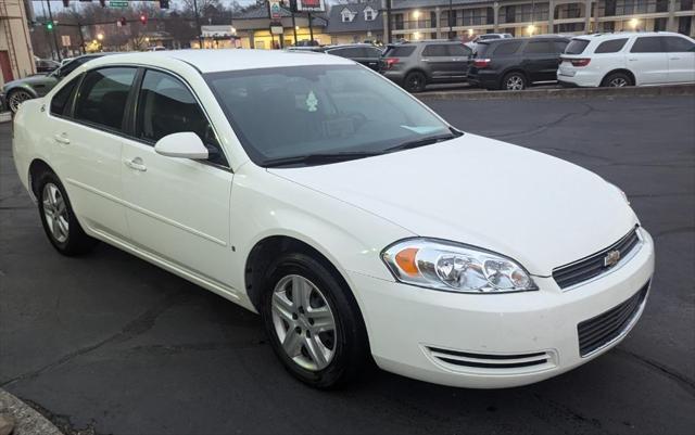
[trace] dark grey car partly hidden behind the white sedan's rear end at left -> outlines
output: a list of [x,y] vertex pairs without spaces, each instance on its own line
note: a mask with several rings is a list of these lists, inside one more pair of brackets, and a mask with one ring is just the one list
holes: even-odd
[[[63,77],[67,76],[79,65],[92,59],[100,57],[104,53],[85,54],[75,57],[73,61],[47,76],[37,75],[7,82],[0,92],[0,112],[4,108],[2,105],[7,104],[7,108],[15,113],[23,101],[46,95]],[[3,101],[4,103],[2,103]]]

